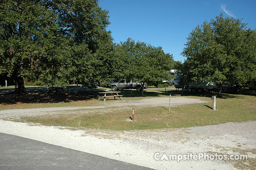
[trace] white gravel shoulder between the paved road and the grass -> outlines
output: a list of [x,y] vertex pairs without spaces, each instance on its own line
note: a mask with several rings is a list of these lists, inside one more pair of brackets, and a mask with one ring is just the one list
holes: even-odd
[[[235,168],[230,162],[219,160],[160,161],[154,159],[154,154],[156,152],[166,154],[220,153],[222,152],[220,148],[229,149],[231,154],[232,148],[255,149],[255,131],[256,121],[181,129],[111,131],[71,130],[63,127],[0,120],[0,132],[2,133],[162,170],[233,170]],[[250,154],[249,157],[255,158],[255,155]]]

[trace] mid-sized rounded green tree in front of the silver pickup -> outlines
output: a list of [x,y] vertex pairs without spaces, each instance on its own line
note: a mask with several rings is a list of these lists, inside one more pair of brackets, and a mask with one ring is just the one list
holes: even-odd
[[162,47],[135,42],[130,38],[116,45],[115,61],[116,80],[126,78],[141,82],[142,85],[170,79],[169,70],[174,64],[172,55],[163,52]]

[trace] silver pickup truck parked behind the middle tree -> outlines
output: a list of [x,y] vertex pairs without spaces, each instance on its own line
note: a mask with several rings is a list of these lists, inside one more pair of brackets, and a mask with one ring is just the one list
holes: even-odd
[[[142,90],[142,85],[139,82],[132,83],[132,81],[127,82],[126,79],[119,80],[117,83],[111,83],[110,88],[113,91],[116,91],[118,89],[136,89],[137,91]],[[148,85],[147,83],[144,83],[144,89],[147,89]]]

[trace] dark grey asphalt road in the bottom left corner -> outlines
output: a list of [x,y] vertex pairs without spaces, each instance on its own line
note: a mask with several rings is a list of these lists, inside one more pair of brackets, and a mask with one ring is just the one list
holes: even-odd
[[1,170],[152,170],[114,159],[0,133]]

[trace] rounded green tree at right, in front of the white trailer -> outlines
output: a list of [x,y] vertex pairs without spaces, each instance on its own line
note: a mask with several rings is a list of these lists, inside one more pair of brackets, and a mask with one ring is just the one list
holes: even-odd
[[242,85],[256,77],[256,31],[240,19],[222,14],[192,30],[182,55],[187,81],[215,82],[218,96],[224,82]]

